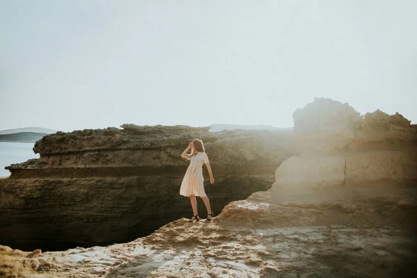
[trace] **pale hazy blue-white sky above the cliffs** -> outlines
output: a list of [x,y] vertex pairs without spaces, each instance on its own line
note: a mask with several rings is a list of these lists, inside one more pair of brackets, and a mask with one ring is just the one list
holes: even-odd
[[0,0],[0,129],[417,122],[417,1]]

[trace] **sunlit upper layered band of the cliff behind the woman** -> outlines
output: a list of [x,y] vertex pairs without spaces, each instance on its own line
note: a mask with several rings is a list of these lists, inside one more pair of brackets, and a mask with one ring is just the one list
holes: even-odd
[[[135,126],[124,124],[123,130],[84,130],[72,133],[58,132],[44,136],[33,148],[39,159],[6,167],[12,178],[26,170],[35,172],[63,168],[129,167],[145,172],[152,167],[179,172],[174,167],[184,167],[186,161],[179,154],[194,138],[201,138],[211,164],[218,170],[247,165],[279,165],[293,154],[292,131],[222,131],[209,133],[208,128],[183,126]],[[135,168],[136,167],[136,168]],[[260,168],[259,168],[260,169]],[[244,170],[247,172],[247,169]],[[62,174],[64,174],[62,172]],[[81,175],[81,170],[79,171]],[[100,175],[100,174],[97,174]],[[115,175],[117,175],[115,173]],[[31,176],[33,177],[33,176]]]

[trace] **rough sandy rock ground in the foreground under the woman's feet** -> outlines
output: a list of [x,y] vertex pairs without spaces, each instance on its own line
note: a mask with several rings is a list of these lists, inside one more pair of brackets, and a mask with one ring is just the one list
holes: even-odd
[[[391,191],[392,192],[391,192]],[[398,188],[254,193],[212,222],[187,219],[108,247],[3,247],[4,277],[416,277],[407,225],[416,199]],[[384,197],[389,196],[389,197]],[[402,215],[402,216],[401,216]],[[15,276],[13,276],[15,275]]]

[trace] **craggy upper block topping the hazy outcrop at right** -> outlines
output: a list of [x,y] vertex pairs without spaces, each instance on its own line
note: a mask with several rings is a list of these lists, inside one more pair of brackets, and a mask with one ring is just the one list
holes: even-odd
[[417,126],[399,113],[359,115],[347,103],[316,98],[293,114],[295,145],[301,153],[409,148],[416,146]]

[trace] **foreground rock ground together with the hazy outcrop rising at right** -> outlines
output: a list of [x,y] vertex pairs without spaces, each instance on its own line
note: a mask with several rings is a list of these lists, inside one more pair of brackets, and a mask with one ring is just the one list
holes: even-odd
[[[341,116],[320,122],[326,115]],[[212,222],[179,219],[149,236],[108,247],[44,253],[1,247],[0,272],[415,277],[417,174],[411,171],[416,156],[409,154],[416,149],[416,126],[379,111],[362,117],[329,99],[316,99],[294,117],[297,152],[277,168],[272,188],[231,202]]]

